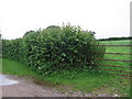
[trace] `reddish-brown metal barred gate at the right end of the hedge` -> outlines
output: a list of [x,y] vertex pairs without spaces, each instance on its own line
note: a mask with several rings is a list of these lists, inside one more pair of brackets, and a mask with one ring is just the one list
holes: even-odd
[[[130,45],[90,45],[90,46],[106,46],[106,47],[112,47],[112,46],[114,46],[114,47],[132,47],[132,45],[130,44]],[[123,50],[123,48],[122,48]],[[131,48],[130,48],[131,50]],[[92,59],[99,59],[99,61],[106,61],[106,63],[107,62],[110,62],[110,63],[112,63],[112,62],[114,62],[114,63],[117,63],[116,65],[114,64],[90,64],[90,65],[96,65],[96,66],[99,66],[98,68],[95,68],[95,69],[100,69],[100,70],[105,70],[105,72],[107,72],[108,74],[110,74],[110,75],[117,75],[117,76],[123,76],[124,78],[131,78],[132,77],[132,72],[131,72],[131,69],[132,69],[132,61],[131,61],[131,55],[132,55],[132,53],[131,53],[131,51],[130,51],[130,53],[123,53],[123,52],[105,52],[105,53],[102,53],[102,52],[90,52],[90,53],[95,53],[95,54],[105,54],[105,55],[120,55],[119,57],[123,57],[124,55],[127,56],[129,56],[130,58],[129,59],[114,59],[114,58],[92,58],[92,57],[88,57],[88,58],[92,58]],[[125,63],[125,64],[129,64],[129,66],[125,66],[125,64],[123,64],[123,65],[120,65],[120,64],[118,64],[118,63]],[[103,67],[106,67],[106,68],[103,68]],[[108,67],[108,68],[107,68]],[[109,68],[110,67],[110,68]],[[114,69],[116,68],[116,69]],[[122,69],[122,68],[125,68],[125,70],[124,69]],[[123,74],[122,74],[123,73]]]

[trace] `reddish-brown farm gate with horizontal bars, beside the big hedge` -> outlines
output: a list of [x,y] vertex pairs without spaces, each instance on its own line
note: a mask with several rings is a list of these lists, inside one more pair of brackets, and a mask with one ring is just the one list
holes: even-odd
[[117,41],[117,43],[118,42],[120,42],[118,45],[116,43],[110,43],[110,41],[107,41],[107,43],[105,41],[102,45],[91,45],[106,46],[106,53],[91,52],[96,54],[105,54],[105,58],[95,58],[101,61],[101,63],[95,65],[99,66],[98,69],[101,69],[110,75],[124,76],[130,79],[130,77],[132,77],[132,45],[131,43],[123,44],[124,41],[122,43],[121,41]]

